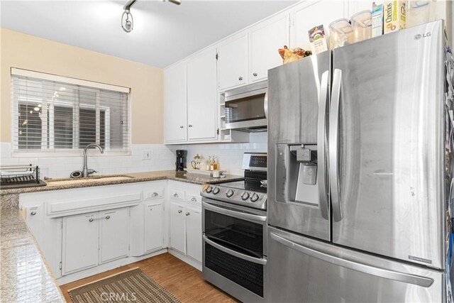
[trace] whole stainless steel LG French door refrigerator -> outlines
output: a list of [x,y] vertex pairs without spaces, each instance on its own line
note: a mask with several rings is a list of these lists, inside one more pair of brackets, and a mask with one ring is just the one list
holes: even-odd
[[450,297],[443,21],[268,73],[269,302]]

